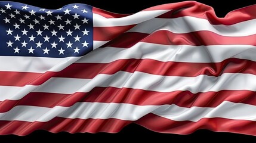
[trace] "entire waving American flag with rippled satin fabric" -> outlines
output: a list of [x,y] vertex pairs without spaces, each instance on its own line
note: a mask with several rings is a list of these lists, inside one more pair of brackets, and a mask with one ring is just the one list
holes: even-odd
[[218,18],[192,1],[135,14],[0,2],[0,135],[129,123],[256,135],[255,8]]

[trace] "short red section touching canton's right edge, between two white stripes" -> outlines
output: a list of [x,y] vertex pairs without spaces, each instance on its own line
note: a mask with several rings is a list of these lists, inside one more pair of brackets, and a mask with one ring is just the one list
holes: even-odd
[[93,27],[93,40],[110,41],[134,26]]

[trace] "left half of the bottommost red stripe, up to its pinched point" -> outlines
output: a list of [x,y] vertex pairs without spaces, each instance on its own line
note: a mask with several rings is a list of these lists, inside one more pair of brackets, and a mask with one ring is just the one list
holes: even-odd
[[66,119],[55,117],[48,122],[25,122],[25,121],[0,121],[0,135],[28,135],[35,130],[43,129],[57,133],[66,131],[77,132],[119,132],[126,125],[131,123],[119,119]]

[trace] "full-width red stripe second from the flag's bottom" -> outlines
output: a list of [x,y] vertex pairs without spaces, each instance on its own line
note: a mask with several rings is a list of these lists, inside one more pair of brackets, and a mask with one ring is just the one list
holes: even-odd
[[0,101],[0,112],[4,113],[17,105],[32,105],[39,107],[64,106],[70,107],[76,102],[116,102],[135,105],[164,105],[176,104],[180,107],[217,107],[223,101],[240,102],[256,105],[254,91],[218,91],[199,92],[189,91],[156,92],[131,88],[94,88],[90,92],[75,94],[53,94],[31,92],[21,100]]

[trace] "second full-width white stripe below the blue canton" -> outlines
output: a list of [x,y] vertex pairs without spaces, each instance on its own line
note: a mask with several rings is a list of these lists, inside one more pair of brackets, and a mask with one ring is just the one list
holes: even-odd
[[[28,92],[50,92],[73,94],[89,92],[95,87],[116,87],[143,89],[147,91],[172,92],[190,91],[192,93],[221,90],[256,90],[256,76],[242,73],[223,73],[219,77],[199,75],[196,77],[160,76],[135,71],[119,71],[115,74],[98,74],[93,79],[52,77],[40,86],[23,87],[0,86],[0,101],[19,100]],[[7,92],[11,91],[11,92]],[[4,95],[4,96],[2,96]]]

